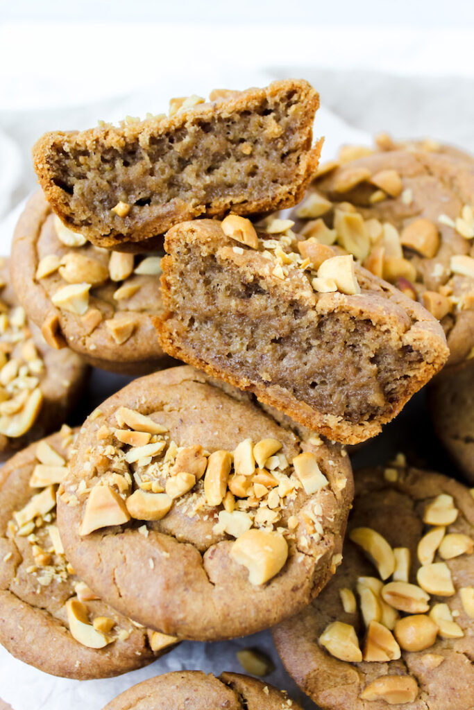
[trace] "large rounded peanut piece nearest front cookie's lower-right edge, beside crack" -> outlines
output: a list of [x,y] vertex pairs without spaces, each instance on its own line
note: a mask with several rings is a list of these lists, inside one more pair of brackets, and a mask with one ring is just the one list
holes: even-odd
[[279,532],[252,528],[234,542],[230,556],[247,567],[250,584],[264,584],[284,567],[288,545]]

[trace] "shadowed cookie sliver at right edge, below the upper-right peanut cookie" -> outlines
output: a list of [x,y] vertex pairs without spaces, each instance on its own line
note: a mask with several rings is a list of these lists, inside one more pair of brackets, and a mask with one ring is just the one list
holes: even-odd
[[436,379],[428,393],[436,435],[474,485],[474,367],[466,366]]

